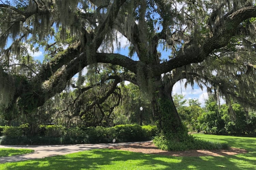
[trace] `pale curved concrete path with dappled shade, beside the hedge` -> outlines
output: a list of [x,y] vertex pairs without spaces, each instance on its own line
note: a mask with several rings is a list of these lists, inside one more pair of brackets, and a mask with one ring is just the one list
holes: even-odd
[[[127,142],[115,143],[115,146],[129,145],[131,143],[141,142]],[[15,148],[15,149],[32,149],[34,152],[24,155],[16,155],[9,157],[0,157],[0,164],[6,162],[17,162],[28,159],[44,158],[47,156],[66,155],[69,153],[80,152],[90,149],[102,149],[114,146],[113,143],[103,144],[84,144],[84,145],[0,145],[0,148]]]

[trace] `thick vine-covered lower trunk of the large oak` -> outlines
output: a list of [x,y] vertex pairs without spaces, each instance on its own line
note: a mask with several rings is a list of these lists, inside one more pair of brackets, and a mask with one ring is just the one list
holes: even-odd
[[187,139],[187,129],[181,122],[180,116],[176,110],[171,96],[172,88],[166,90],[161,87],[158,92],[158,99],[156,100],[158,129],[160,134],[166,139],[183,141]]

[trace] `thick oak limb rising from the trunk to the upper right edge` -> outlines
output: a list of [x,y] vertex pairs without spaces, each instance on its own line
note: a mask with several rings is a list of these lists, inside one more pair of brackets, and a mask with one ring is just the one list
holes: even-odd
[[256,17],[256,6],[243,7],[232,13],[227,17],[223,28],[213,37],[205,40],[200,47],[192,46],[185,49],[183,53],[177,54],[175,58],[168,62],[152,66],[154,74],[160,75],[174,68],[202,62],[213,50],[225,47],[229,43],[230,38],[235,35],[239,24],[251,17]]

